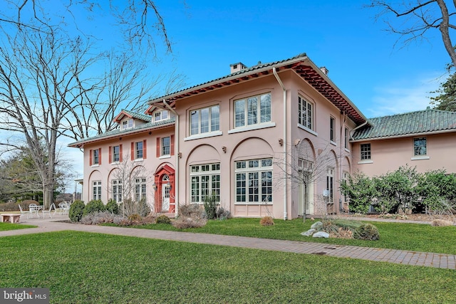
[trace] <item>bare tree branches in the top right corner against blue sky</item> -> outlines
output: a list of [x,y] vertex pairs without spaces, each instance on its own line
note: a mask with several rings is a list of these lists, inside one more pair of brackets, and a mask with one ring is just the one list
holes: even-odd
[[[425,39],[429,30],[437,29],[442,36],[445,50],[456,66],[456,51],[451,39],[451,31],[456,29],[453,18],[456,14],[456,2],[445,0],[401,1],[391,4],[390,1],[371,1],[368,7],[380,9],[377,18],[384,18],[388,30],[398,33],[405,44],[417,39]],[[400,19],[399,23],[389,16]]]

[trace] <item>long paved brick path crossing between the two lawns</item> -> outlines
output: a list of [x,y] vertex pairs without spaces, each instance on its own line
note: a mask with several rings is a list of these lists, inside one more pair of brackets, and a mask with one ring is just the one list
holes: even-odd
[[311,243],[301,241],[256,239],[243,236],[221,236],[215,234],[194,234],[190,232],[90,226],[61,222],[64,220],[68,220],[68,216],[57,215],[54,216],[53,219],[22,219],[22,222],[24,224],[36,225],[38,228],[0,231],[0,237],[23,234],[38,234],[50,231],[73,230],[100,234],[116,234],[120,236],[136,236],[148,239],[186,241],[220,246],[234,246],[271,251],[318,254],[334,256],[338,258],[359,258],[368,261],[389,262],[403,265],[456,269],[456,256],[442,253],[401,251],[395,249],[368,248],[358,246],[341,246],[327,243]]

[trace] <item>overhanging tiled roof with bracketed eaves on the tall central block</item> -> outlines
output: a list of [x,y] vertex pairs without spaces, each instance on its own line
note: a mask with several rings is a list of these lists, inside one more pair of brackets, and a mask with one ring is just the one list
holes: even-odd
[[[155,103],[162,103],[166,100],[172,105],[176,100],[187,98],[189,96],[202,94],[207,91],[217,90],[224,88],[234,83],[242,83],[253,78],[259,78],[265,75],[272,75],[274,68],[277,72],[281,70],[292,69],[307,83],[309,83],[315,90],[321,95],[327,98],[333,105],[336,105],[341,112],[345,112],[353,122],[357,125],[367,121],[363,113],[356,108],[351,100],[349,100],[342,91],[328,78],[328,75],[323,73],[310,59],[306,56],[306,53],[301,53],[283,61],[275,61],[272,63],[260,63],[254,65],[251,68],[245,68],[239,70],[236,73],[217,78],[214,80],[207,81],[199,85],[194,85],[190,88],[178,90],[175,93],[169,95],[160,96],[153,100],[150,100],[150,105]],[[151,108],[150,108],[151,109]]]

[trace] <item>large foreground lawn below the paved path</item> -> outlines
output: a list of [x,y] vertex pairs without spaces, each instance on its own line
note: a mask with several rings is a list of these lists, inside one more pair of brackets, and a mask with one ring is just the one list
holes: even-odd
[[455,301],[445,269],[78,231],[1,243],[0,287],[50,288],[50,303]]

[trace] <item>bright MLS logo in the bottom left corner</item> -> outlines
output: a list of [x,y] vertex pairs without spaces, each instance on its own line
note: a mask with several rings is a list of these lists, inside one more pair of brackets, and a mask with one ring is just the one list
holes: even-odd
[[0,303],[49,304],[49,288],[0,288]]

